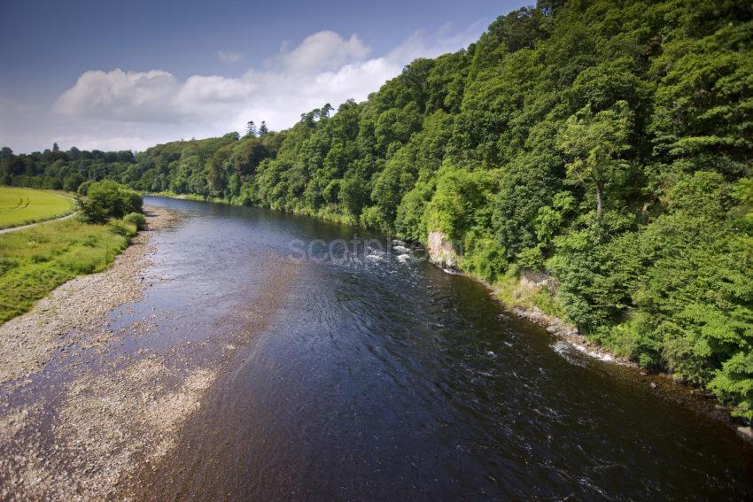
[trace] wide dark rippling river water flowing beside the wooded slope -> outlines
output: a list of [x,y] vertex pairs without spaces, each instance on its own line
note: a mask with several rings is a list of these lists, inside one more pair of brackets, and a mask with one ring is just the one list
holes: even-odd
[[144,498],[753,496],[753,448],[713,405],[557,343],[420,251],[257,208],[145,203],[185,218],[154,238],[165,280],[133,315],[169,319],[139,343],[196,343],[205,362],[237,347],[175,452],[144,469]]

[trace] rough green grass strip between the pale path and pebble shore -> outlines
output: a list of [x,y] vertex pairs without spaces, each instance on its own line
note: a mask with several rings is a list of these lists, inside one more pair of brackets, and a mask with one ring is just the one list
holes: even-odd
[[0,323],[63,282],[105,269],[135,234],[122,220],[89,225],[73,218],[0,235]]

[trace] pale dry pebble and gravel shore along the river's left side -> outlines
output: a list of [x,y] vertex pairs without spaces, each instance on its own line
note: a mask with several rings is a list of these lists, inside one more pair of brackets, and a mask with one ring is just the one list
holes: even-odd
[[143,274],[151,239],[177,220],[159,208],[145,214],[147,230],[113,266],[66,282],[0,326],[0,498],[112,495],[137,459],[169,449],[212,382],[207,369],[177,375],[156,353],[104,357],[150,321],[115,329],[107,315],[142,297],[153,281]]

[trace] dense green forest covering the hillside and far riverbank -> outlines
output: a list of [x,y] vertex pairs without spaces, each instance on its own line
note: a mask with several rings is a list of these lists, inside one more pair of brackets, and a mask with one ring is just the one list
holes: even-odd
[[753,418],[753,4],[541,1],[363,103],[282,132],[0,153],[0,182],[113,179],[441,231],[492,284],[523,269],[595,341]]

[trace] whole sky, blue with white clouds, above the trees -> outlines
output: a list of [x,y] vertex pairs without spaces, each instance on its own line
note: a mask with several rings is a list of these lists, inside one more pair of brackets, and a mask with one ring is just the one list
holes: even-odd
[[4,2],[0,143],[135,149],[364,99],[519,1]]

